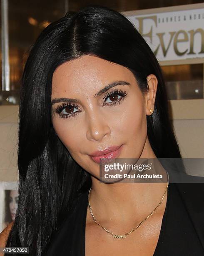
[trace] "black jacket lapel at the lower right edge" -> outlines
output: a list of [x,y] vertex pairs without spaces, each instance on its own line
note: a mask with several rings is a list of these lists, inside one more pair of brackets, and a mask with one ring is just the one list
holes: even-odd
[[175,183],[204,248],[204,184]]

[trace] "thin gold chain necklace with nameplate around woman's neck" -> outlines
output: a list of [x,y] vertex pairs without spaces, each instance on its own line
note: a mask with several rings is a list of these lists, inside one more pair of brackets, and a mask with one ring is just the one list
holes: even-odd
[[136,230],[137,228],[139,228],[139,226],[141,226],[141,225],[144,223],[144,221],[147,220],[147,219],[157,210],[157,208],[161,205],[162,200],[164,199],[164,196],[165,196],[165,194],[166,194],[166,192],[167,192],[168,186],[169,186],[169,174],[168,174],[168,172],[167,172],[167,187],[166,187],[166,190],[165,190],[165,192],[164,192],[164,195],[162,196],[162,199],[160,200],[160,202],[159,202],[159,204],[157,205],[157,207],[155,207],[154,210],[153,210],[144,220],[142,220],[142,221],[139,223],[139,225],[137,225],[136,228],[134,228],[133,230],[129,231],[128,233],[126,233],[126,234],[124,234],[124,235],[116,235],[116,234],[110,232],[109,230],[107,230],[106,228],[104,228],[100,223],[98,223],[98,222],[96,221],[96,219],[95,219],[95,217],[94,217],[94,215],[93,215],[92,209],[91,209],[91,205],[90,205],[90,192],[91,192],[91,188],[90,188],[90,190],[89,190],[89,204],[88,204],[88,205],[89,205],[89,209],[90,209],[92,218],[93,218],[93,220],[95,221],[95,223],[97,223],[98,225],[100,225],[107,233],[111,234],[111,235],[112,235],[112,238],[126,238],[127,235],[129,235],[129,234],[132,233],[134,230]]

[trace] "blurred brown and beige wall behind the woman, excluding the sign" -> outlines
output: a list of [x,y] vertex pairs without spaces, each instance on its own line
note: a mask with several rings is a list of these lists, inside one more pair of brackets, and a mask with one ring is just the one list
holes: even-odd
[[[119,12],[203,3],[202,0],[1,0],[0,180],[17,180],[20,79],[40,32],[67,11],[102,5]],[[204,8],[204,5],[202,6]],[[204,14],[203,14],[204,15]],[[203,16],[204,17],[204,16]],[[203,19],[201,20],[203,27]],[[204,44],[204,40],[202,41]],[[183,157],[204,158],[204,61],[161,62],[171,116]],[[203,172],[203,171],[202,171]]]

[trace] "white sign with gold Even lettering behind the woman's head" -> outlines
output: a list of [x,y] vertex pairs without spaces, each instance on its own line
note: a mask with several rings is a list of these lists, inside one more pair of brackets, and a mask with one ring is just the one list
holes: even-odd
[[204,58],[204,8],[127,18],[159,61]]

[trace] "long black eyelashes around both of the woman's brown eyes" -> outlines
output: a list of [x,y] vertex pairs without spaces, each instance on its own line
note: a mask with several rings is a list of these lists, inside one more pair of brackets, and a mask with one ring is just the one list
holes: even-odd
[[[126,97],[127,95],[127,92],[123,91],[123,90],[118,90],[118,89],[113,89],[113,90],[110,90],[110,92],[107,92],[103,99],[104,101],[106,101],[109,97],[111,97],[112,95],[119,95],[121,96],[119,98],[119,100],[115,100],[115,101],[112,101],[112,102],[108,102],[106,104],[103,104],[103,106],[114,106],[114,105],[117,105],[117,104],[120,104],[122,100],[124,100],[124,98]],[[74,113],[69,113],[69,114],[63,114],[62,113],[62,110],[64,110],[65,108],[79,108],[79,105],[75,104],[75,103],[62,103],[62,105],[59,105],[57,106],[57,108],[55,109],[55,113],[57,113],[59,115],[60,118],[71,118],[71,117],[75,117],[77,115],[77,112],[74,112]]]

